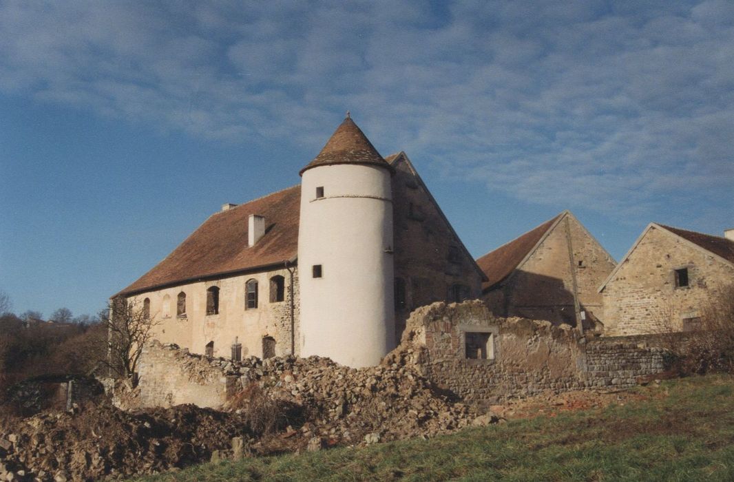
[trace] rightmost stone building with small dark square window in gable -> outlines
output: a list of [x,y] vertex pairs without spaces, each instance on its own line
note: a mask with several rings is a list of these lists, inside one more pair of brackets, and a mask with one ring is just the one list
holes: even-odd
[[734,283],[734,230],[725,237],[650,223],[599,288],[606,335],[688,331]]

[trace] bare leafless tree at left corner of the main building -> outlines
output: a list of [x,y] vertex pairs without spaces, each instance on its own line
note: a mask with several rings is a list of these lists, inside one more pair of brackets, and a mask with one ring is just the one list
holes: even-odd
[[119,377],[132,379],[142,349],[155,332],[155,321],[138,302],[123,297],[112,300],[112,309],[99,315],[108,332],[108,359],[106,364]]

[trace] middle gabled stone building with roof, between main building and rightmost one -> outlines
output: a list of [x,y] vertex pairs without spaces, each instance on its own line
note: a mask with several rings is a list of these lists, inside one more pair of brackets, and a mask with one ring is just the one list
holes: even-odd
[[498,316],[599,328],[597,288],[616,264],[570,211],[477,260],[487,275],[482,299]]

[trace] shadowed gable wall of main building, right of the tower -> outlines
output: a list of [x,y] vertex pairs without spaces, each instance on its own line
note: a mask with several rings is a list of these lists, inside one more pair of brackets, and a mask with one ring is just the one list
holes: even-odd
[[451,287],[465,286],[465,299],[479,298],[482,275],[451,230],[410,162],[394,163],[393,236],[395,277],[405,286],[405,303],[396,306],[396,340],[415,308],[451,300]]

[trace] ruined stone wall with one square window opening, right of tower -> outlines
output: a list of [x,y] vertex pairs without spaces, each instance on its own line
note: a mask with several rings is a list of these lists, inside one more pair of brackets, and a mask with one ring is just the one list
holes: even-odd
[[[489,333],[487,357],[468,359],[468,335]],[[570,326],[498,318],[480,302],[416,310],[401,346],[388,355],[417,365],[465,401],[490,404],[551,390],[632,387],[664,370],[664,349],[640,340],[584,337]]]

